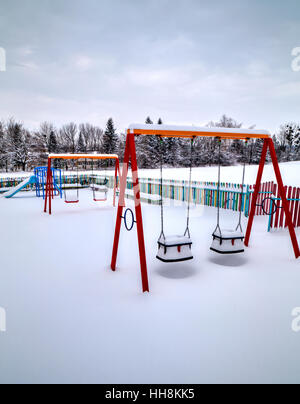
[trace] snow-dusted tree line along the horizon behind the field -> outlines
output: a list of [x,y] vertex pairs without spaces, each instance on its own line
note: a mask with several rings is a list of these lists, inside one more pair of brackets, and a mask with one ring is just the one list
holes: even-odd
[[[154,123],[150,117],[147,124]],[[158,124],[163,124],[159,119]],[[217,122],[209,122],[209,127],[241,128],[242,124],[223,115]],[[254,126],[252,127],[254,128]],[[274,134],[273,141],[279,161],[300,160],[300,125],[287,123]],[[217,164],[234,165],[242,162],[257,164],[260,159],[263,141],[241,140],[224,141],[219,154],[219,144],[214,138],[197,138],[193,142],[186,139],[158,136],[137,136],[136,149],[140,168],[157,168],[163,163],[167,167],[187,167],[190,165],[191,152],[193,166]],[[56,128],[44,122],[36,131],[30,131],[14,119],[0,121],[0,170],[26,171],[47,164],[49,153],[103,153],[118,154],[123,160],[125,134],[117,133],[113,119],[107,121],[105,129],[89,123],[68,123]],[[56,161],[60,168],[72,169],[70,162]],[[68,166],[69,164],[69,166]],[[91,168],[91,162],[80,161],[80,168]],[[98,167],[109,163],[97,162]],[[63,167],[65,165],[65,167]]]

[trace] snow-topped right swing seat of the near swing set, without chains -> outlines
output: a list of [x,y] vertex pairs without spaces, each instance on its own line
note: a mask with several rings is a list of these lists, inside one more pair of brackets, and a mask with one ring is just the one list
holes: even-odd
[[216,229],[210,249],[218,254],[240,254],[245,252],[245,235],[241,230]]

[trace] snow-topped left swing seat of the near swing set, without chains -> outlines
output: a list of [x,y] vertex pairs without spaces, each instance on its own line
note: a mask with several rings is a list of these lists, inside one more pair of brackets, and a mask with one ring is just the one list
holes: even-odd
[[182,262],[193,259],[192,240],[187,236],[161,236],[156,258],[162,262]]

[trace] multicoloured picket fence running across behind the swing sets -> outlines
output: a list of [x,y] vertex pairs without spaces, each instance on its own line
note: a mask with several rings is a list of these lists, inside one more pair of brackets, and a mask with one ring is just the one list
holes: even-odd
[[[103,183],[107,179],[107,186],[113,188],[114,176],[95,175],[94,181],[98,184]],[[8,188],[17,186],[24,180],[20,178],[0,178],[0,192]],[[143,194],[160,195],[161,184],[159,179],[140,178],[140,189]],[[62,176],[62,187],[64,184],[77,185],[78,182],[82,187],[89,186],[91,183],[91,174],[70,173]],[[34,185],[28,186],[25,190],[34,190]],[[127,179],[127,189],[133,189],[132,178]],[[180,180],[164,180],[163,181],[163,197],[166,199],[187,202],[189,200],[189,189],[191,189],[191,201],[194,204],[217,207],[218,205],[218,184],[216,182],[199,182],[193,181],[189,188],[188,181]],[[290,204],[290,211],[295,227],[300,227],[300,188],[285,187],[286,195]],[[221,183],[220,187],[220,207],[233,211],[244,212],[248,217],[250,206],[252,203],[254,186],[245,185],[242,190],[241,184]],[[275,206],[276,205],[276,206]],[[276,210],[275,210],[275,207]],[[261,185],[256,216],[269,216],[269,230],[287,227],[286,217],[282,209],[281,198],[279,197],[277,184],[274,182],[266,182]]]

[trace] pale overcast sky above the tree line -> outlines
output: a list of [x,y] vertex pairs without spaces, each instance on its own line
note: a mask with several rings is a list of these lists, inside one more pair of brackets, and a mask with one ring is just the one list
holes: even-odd
[[300,121],[299,0],[0,0],[0,119]]

